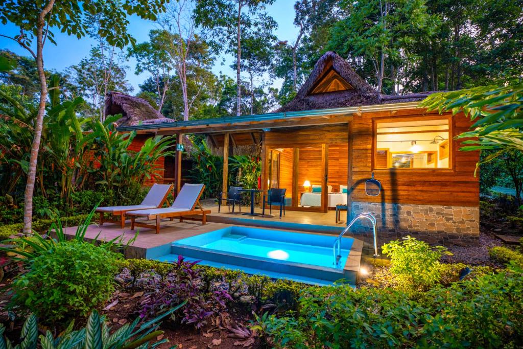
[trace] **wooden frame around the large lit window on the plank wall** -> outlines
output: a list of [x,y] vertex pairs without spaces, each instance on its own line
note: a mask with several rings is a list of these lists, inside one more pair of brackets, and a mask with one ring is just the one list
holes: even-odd
[[[420,121],[420,120],[447,120],[449,125],[449,166],[448,167],[417,167],[417,168],[402,168],[402,167],[376,167],[376,158],[378,149],[378,124],[384,122],[404,122],[404,121]],[[401,132],[398,132],[401,133]],[[391,171],[407,171],[407,172],[456,172],[456,153],[454,152],[454,122],[452,115],[435,115],[435,116],[406,116],[406,117],[377,117],[372,118],[372,156],[371,156],[371,168],[374,172],[391,172]],[[390,151],[389,151],[390,153]]]

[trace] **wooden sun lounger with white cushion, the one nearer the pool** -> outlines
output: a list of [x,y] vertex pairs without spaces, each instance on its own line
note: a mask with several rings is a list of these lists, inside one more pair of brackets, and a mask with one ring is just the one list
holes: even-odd
[[[203,193],[203,189],[205,189],[205,185],[203,184],[185,184],[181,187],[180,193],[176,196],[173,205],[170,207],[126,212],[126,216],[131,216],[131,229],[134,230],[134,227],[154,228],[156,234],[158,234],[160,233],[160,221],[162,218],[173,220],[173,218],[178,217],[180,222],[183,222],[184,216],[191,215],[201,215],[202,224],[206,224],[206,215],[211,213],[211,211],[203,210],[200,205],[200,197]],[[199,208],[196,209],[196,206]],[[145,217],[148,220],[155,220],[155,224],[136,222],[135,219],[137,217]],[[192,220],[195,218],[187,219]]]

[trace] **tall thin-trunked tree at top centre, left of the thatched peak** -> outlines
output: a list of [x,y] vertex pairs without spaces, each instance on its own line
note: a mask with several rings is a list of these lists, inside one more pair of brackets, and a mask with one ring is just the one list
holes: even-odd
[[267,36],[277,24],[266,12],[274,0],[200,0],[196,24],[210,30],[214,47],[236,55],[236,116],[242,115],[242,33]]

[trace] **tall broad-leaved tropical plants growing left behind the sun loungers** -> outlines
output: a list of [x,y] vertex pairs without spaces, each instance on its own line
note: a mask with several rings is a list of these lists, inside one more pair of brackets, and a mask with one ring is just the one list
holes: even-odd
[[[152,137],[137,151],[132,151],[129,147],[136,134],[115,130],[114,122],[119,116],[104,121],[78,116],[76,109],[84,100],[76,97],[62,101],[59,76],[53,75],[50,82],[50,100],[42,129],[43,156],[38,161],[33,202],[36,215],[51,216],[53,209],[86,213],[99,199],[128,202],[131,196],[139,197],[144,181],[155,181],[158,170],[163,170],[156,163],[161,156],[172,154],[169,147],[174,138]],[[16,206],[27,176],[35,113],[30,105],[25,106],[20,98],[2,89],[0,107],[6,112],[0,120],[4,131],[0,136],[0,188],[2,196],[12,197]],[[81,200],[78,193],[88,188],[105,194],[83,205],[84,212],[71,212],[73,201]]]

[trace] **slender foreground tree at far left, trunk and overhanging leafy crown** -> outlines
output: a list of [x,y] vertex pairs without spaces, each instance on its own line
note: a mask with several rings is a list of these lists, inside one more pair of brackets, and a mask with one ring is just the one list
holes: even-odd
[[[31,231],[32,195],[35,188],[36,166],[42,136],[43,117],[46,112],[48,96],[47,79],[44,74],[43,47],[47,40],[54,42],[51,29],[58,29],[76,36],[86,35],[89,29],[88,15],[99,15],[104,26],[99,35],[110,44],[124,47],[133,41],[127,32],[127,16],[138,15],[141,18],[156,20],[156,15],[163,10],[164,0],[85,0],[78,3],[73,0],[7,0],[0,3],[0,21],[12,23],[20,29],[18,35],[3,37],[13,39],[26,49],[35,59],[40,81],[38,114],[35,120],[35,136],[31,145],[27,184],[24,194],[24,232]],[[33,40],[36,39],[36,51]]]

